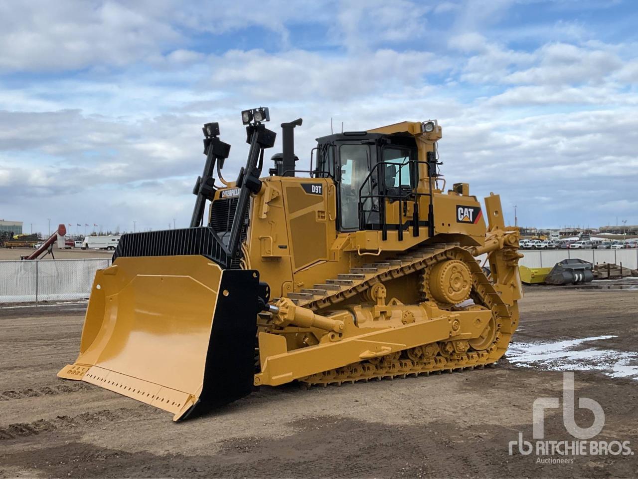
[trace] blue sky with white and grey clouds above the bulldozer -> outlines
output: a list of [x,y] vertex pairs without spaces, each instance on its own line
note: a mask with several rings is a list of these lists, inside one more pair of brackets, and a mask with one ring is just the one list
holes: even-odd
[[331,120],[437,119],[447,185],[510,224],[638,224],[637,25],[634,0],[0,0],[0,219],[187,227],[201,126],[234,179],[265,106],[303,118],[300,169]]

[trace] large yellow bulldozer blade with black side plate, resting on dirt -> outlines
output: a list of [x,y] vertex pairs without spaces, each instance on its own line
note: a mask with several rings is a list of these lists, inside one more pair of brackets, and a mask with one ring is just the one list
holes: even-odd
[[80,355],[57,376],[174,414],[251,392],[259,275],[201,255],[118,257],[96,273]]

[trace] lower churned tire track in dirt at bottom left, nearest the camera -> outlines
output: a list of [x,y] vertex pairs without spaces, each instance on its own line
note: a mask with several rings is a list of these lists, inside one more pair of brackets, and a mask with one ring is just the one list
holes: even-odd
[[0,427],[0,441],[17,439],[19,437],[37,436],[43,432],[54,430],[68,430],[84,425],[99,425],[117,420],[130,419],[133,409],[121,407],[119,409],[102,409],[78,416],[57,416],[54,419],[38,419],[29,423],[12,423]]

